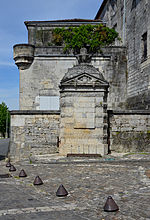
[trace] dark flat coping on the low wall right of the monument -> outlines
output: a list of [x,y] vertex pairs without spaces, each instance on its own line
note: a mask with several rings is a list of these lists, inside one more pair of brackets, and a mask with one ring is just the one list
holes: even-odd
[[150,110],[108,110],[112,115],[150,115]]

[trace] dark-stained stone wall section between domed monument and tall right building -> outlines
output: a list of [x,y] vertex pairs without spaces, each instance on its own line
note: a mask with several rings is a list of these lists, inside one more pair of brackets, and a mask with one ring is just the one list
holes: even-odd
[[92,65],[102,72],[109,82],[108,109],[126,109],[127,58],[126,48],[110,46],[93,57]]

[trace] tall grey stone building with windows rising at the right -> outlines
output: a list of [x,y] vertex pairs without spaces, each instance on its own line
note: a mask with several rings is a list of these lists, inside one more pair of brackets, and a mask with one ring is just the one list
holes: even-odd
[[127,107],[150,109],[150,1],[104,0],[95,19],[119,32],[127,48]]

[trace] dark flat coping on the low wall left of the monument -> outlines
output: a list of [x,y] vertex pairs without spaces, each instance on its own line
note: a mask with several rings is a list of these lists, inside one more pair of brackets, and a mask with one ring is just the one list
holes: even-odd
[[55,110],[13,110],[11,115],[60,115],[60,111]]

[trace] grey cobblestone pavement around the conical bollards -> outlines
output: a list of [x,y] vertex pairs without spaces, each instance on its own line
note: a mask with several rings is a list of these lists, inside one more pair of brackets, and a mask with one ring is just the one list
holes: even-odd
[[[150,219],[150,160],[93,163],[14,163],[12,177],[0,161],[0,220],[148,220]],[[24,169],[26,178],[19,178]],[[34,186],[39,175],[44,184]],[[56,197],[63,184],[69,195]],[[104,212],[108,196],[118,212]]]

